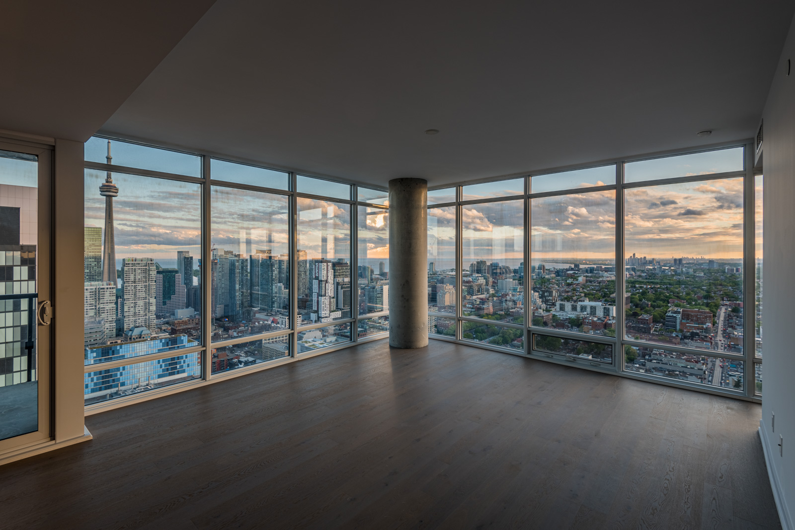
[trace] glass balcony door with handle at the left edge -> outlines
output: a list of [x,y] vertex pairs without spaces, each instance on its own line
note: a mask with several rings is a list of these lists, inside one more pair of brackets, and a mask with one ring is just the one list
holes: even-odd
[[0,141],[0,454],[52,437],[52,152]]

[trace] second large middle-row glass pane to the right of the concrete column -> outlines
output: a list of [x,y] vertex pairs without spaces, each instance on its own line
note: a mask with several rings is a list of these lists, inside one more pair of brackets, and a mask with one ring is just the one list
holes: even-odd
[[521,200],[463,206],[464,317],[525,321],[524,211]]

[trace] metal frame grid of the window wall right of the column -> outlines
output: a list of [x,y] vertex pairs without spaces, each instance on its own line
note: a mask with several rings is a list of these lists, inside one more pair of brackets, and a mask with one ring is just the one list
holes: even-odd
[[[624,179],[624,168],[626,163],[631,162],[638,162],[641,160],[649,160],[649,159],[661,159],[661,158],[668,158],[670,156],[678,156],[678,155],[689,155],[699,152],[712,152],[712,151],[719,151],[727,148],[745,148],[744,152],[744,167],[742,170],[738,171],[726,171],[722,173],[712,173],[707,175],[691,175],[685,177],[676,177],[671,179],[656,179],[656,180],[648,180],[642,182],[625,182]],[[574,170],[581,170],[581,169],[588,169],[591,167],[603,167],[608,165],[615,164],[615,184],[608,184],[604,186],[589,186],[589,187],[580,187],[580,188],[572,188],[572,189],[565,189],[565,190],[555,190],[555,191],[545,191],[533,194],[531,193],[530,182],[533,178],[533,175],[550,175],[554,173],[561,173],[564,171],[574,171]],[[514,196],[506,196],[506,197],[499,197],[499,198],[489,198],[489,199],[480,199],[480,200],[468,200],[463,201],[463,186],[470,186],[472,184],[478,184],[483,182],[498,182],[500,180],[508,180],[508,179],[517,179],[518,177],[523,177],[525,179],[525,193],[523,195],[514,195]],[[543,328],[533,326],[533,322],[531,320],[530,315],[530,304],[529,301],[526,299],[528,297],[529,292],[532,290],[532,283],[528,281],[529,271],[530,271],[530,263],[532,263],[532,248],[530,246],[530,238],[531,238],[531,228],[532,228],[532,209],[530,207],[530,201],[533,198],[544,198],[544,197],[553,197],[553,196],[560,196],[560,195],[567,195],[567,194],[585,194],[591,192],[598,192],[598,191],[607,191],[607,190],[615,190],[615,266],[616,266],[616,275],[615,275],[615,293],[616,293],[616,304],[617,308],[620,301],[623,299],[624,295],[626,294],[626,272],[621,274],[622,267],[624,267],[623,263],[626,263],[626,256],[624,255],[624,194],[626,190],[630,190],[633,188],[640,188],[640,187],[650,187],[650,186],[663,186],[666,184],[676,184],[682,182],[705,182],[710,180],[718,180],[718,179],[728,179],[728,178],[743,178],[743,336],[744,336],[744,344],[743,344],[743,353],[742,354],[732,354],[726,351],[712,351],[712,350],[700,350],[697,348],[680,348],[677,346],[669,346],[667,344],[660,344],[661,348],[665,348],[666,350],[670,351],[679,351],[682,353],[689,353],[694,355],[700,355],[708,358],[720,358],[720,359],[736,359],[743,361],[744,367],[744,374],[743,374],[743,389],[742,390],[732,390],[725,387],[712,387],[709,388],[704,386],[700,383],[692,383],[686,382],[682,380],[665,380],[663,378],[649,375],[649,374],[640,374],[633,371],[626,371],[624,367],[625,358],[623,355],[623,348],[626,345],[630,345],[633,347],[645,347],[648,348],[654,343],[649,342],[642,342],[632,339],[626,339],[625,336],[625,327],[626,327],[626,318],[624,311],[619,311],[618,309],[615,310],[615,337],[609,336],[597,336],[597,335],[590,335],[588,333],[583,332],[568,332],[568,331],[561,331],[556,330],[554,328]],[[701,146],[697,148],[686,148],[686,149],[675,149],[669,150],[665,152],[654,152],[645,155],[638,155],[638,156],[625,156],[616,159],[605,159],[594,161],[591,163],[583,163],[583,164],[573,164],[564,167],[550,167],[550,168],[543,168],[537,171],[527,171],[519,174],[512,174],[512,175],[502,175],[498,177],[491,177],[488,179],[479,179],[473,180],[468,182],[456,182],[456,183],[445,183],[444,185],[439,186],[431,186],[429,190],[442,190],[448,188],[455,188],[456,191],[456,201],[455,202],[444,202],[438,204],[428,205],[428,209],[433,208],[440,208],[444,206],[455,206],[456,207],[456,293],[457,296],[460,297],[461,289],[462,289],[462,274],[463,271],[463,256],[462,256],[462,240],[463,240],[463,230],[462,230],[462,208],[464,205],[470,204],[479,204],[483,202],[500,202],[500,201],[509,201],[515,199],[523,199],[525,201],[525,277],[523,278],[523,283],[525,286],[525,325],[514,325],[505,322],[498,322],[494,323],[495,325],[505,326],[505,327],[524,327],[525,328],[525,351],[517,351],[514,348],[501,348],[489,344],[482,344],[477,343],[472,340],[465,340],[462,336],[462,322],[465,321],[479,321],[479,322],[487,322],[483,319],[478,319],[476,317],[465,317],[463,316],[463,304],[458,303],[456,304],[456,314],[453,315],[452,313],[437,313],[433,311],[429,311],[429,316],[434,317],[441,317],[441,318],[452,318],[456,320],[456,335],[452,336],[440,336],[436,334],[430,334],[429,337],[435,340],[448,340],[452,342],[456,342],[459,344],[467,344],[470,346],[475,346],[476,348],[483,348],[489,349],[494,351],[502,351],[505,353],[510,353],[512,355],[521,355],[524,357],[529,357],[533,359],[540,359],[545,361],[551,361],[553,363],[560,363],[566,365],[574,365],[577,367],[582,367],[592,371],[600,371],[603,373],[610,373],[619,375],[626,378],[634,378],[640,379],[644,381],[655,382],[657,384],[663,384],[667,386],[677,386],[680,388],[687,388],[690,390],[697,390],[700,392],[708,393],[708,394],[719,394],[723,396],[735,397],[747,401],[761,401],[761,395],[757,394],[756,389],[756,381],[755,381],[755,373],[754,369],[757,364],[762,364],[762,358],[755,356],[754,349],[755,349],[755,340],[748,340],[747,332],[748,330],[755,330],[755,254],[754,254],[754,245],[755,245],[755,224],[754,224],[754,149],[753,149],[753,142],[752,140],[743,140],[743,141],[735,141],[735,142],[726,142],[723,144],[713,144],[708,146]],[[535,344],[534,340],[535,334],[539,335],[549,335],[549,336],[557,336],[563,339],[574,339],[574,340],[590,340],[592,342],[599,342],[603,344],[611,344],[613,346],[613,363],[607,364],[604,362],[597,362],[591,361],[590,359],[580,359],[576,357],[572,357],[571,355],[561,355],[555,354],[549,351],[540,351],[533,349],[533,344]],[[755,336],[755,335],[754,335]],[[753,337],[752,337],[753,338]]]

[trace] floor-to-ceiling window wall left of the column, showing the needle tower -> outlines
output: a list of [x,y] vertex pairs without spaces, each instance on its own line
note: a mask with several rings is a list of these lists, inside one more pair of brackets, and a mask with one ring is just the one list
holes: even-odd
[[387,195],[91,138],[86,404],[132,401],[388,332]]

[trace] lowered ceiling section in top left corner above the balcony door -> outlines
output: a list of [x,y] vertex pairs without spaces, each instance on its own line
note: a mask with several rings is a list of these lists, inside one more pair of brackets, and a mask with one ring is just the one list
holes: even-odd
[[87,140],[211,5],[3,2],[0,129]]

